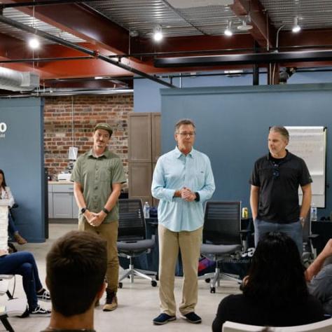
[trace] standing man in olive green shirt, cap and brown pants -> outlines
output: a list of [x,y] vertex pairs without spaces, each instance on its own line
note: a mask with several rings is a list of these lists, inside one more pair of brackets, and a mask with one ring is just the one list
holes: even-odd
[[120,158],[107,149],[111,134],[108,123],[98,123],[92,136],[92,149],[78,158],[71,174],[80,209],[78,229],[97,233],[107,242],[104,311],[118,307],[118,197],[126,181]]

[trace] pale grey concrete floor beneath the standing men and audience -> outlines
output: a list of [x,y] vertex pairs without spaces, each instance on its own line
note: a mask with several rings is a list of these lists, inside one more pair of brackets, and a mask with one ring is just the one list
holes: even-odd
[[[39,267],[41,281],[44,283],[46,275],[45,257],[48,249],[57,237],[76,229],[74,224],[50,224],[50,238],[45,243],[28,243],[17,246],[19,250],[32,251]],[[177,303],[181,298],[181,277],[176,277],[175,296]],[[179,312],[177,320],[163,326],[154,326],[152,319],[159,314],[158,287],[152,287],[148,280],[135,279],[133,284],[124,280],[123,289],[118,291],[118,309],[113,312],[103,312],[102,306],[95,310],[95,329],[98,332],[141,332],[141,331],[211,331],[212,321],[216,314],[216,309],[220,300],[229,293],[238,293],[238,286],[235,282],[223,282],[223,287],[216,289],[216,293],[209,292],[209,285],[203,280],[199,281],[198,305],[196,312],[202,317],[202,324],[189,324],[181,319]],[[22,279],[17,277],[15,297],[24,297]],[[6,302],[6,296],[0,297],[0,305]],[[102,300],[101,303],[104,303]],[[42,303],[43,307],[50,308],[50,303]],[[38,332],[48,326],[49,318],[27,317],[20,319],[11,317],[11,322],[15,332]],[[6,331],[0,324],[0,331]]]

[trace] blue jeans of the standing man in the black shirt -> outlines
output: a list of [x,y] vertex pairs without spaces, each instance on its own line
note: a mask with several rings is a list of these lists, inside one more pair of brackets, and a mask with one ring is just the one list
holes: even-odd
[[302,255],[303,251],[303,234],[302,225],[300,221],[295,223],[270,223],[259,219],[254,220],[255,228],[255,247],[257,246],[258,240],[269,232],[282,232],[291,237],[298,247],[298,252]]

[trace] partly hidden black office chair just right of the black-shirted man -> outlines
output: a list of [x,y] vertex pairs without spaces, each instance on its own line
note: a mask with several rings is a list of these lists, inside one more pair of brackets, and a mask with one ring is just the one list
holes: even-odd
[[317,241],[318,234],[312,234],[312,220],[310,218],[310,211],[305,216],[305,223],[303,226],[303,253],[302,261],[305,266],[309,266],[317,257]]

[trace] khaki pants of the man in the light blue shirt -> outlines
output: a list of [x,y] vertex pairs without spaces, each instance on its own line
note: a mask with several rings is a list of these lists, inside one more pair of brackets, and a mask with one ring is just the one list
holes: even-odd
[[195,311],[198,301],[198,259],[202,244],[202,227],[193,232],[172,232],[158,225],[159,234],[159,298],[160,309],[174,316],[177,306],[174,298],[175,265],[179,250],[184,268],[181,314]]

